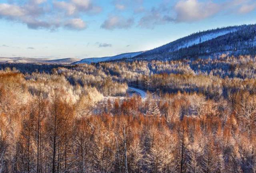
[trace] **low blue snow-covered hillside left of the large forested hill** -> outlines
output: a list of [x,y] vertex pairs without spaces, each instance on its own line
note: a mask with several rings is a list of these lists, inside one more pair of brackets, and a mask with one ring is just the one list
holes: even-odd
[[115,55],[112,57],[102,57],[102,58],[87,58],[87,59],[82,59],[81,61],[77,61],[73,64],[90,64],[90,63],[99,63],[99,62],[104,62],[104,61],[113,61],[113,60],[118,60],[118,59],[123,59],[123,58],[133,58],[137,55],[140,55],[141,52],[132,52],[132,53],[123,53],[120,55]]

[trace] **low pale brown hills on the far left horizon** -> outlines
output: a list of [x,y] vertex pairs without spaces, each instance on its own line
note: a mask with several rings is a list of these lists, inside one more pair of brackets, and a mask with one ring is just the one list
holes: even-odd
[[71,64],[76,61],[80,61],[77,58],[65,58],[65,59],[48,59],[48,58],[25,58],[25,57],[14,57],[5,58],[0,57],[0,63],[44,63],[44,64]]

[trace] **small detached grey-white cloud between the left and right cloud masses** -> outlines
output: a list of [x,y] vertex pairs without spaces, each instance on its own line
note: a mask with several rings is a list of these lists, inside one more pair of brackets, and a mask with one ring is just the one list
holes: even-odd
[[133,18],[124,18],[122,16],[108,16],[108,19],[104,21],[101,28],[104,29],[123,29],[130,28],[134,24]]

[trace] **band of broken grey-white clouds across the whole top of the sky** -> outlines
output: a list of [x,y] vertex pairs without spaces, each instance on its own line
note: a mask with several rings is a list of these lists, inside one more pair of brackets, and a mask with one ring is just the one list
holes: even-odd
[[[7,3],[8,2],[8,3]],[[96,0],[8,0],[0,3],[0,19],[25,24],[30,29],[83,30],[88,27],[85,16],[104,14]],[[105,3],[105,4],[104,4]],[[217,15],[247,14],[256,10],[255,0],[108,0],[106,18],[97,18],[102,29],[128,29],[132,26],[153,29],[173,23],[192,23]],[[146,5],[147,4],[147,5]],[[102,21],[101,21],[102,20]]]

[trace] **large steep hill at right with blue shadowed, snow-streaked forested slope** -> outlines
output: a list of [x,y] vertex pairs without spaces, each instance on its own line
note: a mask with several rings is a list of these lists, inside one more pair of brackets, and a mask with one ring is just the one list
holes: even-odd
[[256,25],[232,26],[194,33],[133,57],[134,60],[172,60],[227,55],[256,55]]

